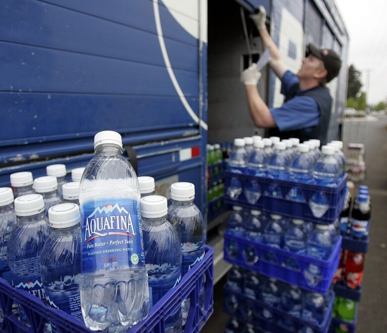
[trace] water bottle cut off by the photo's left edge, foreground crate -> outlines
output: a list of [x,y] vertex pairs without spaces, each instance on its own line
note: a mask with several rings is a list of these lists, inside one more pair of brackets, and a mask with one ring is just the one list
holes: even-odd
[[[7,262],[7,244],[9,234],[16,223],[13,205],[13,193],[9,187],[0,188],[0,277],[12,285],[11,271]],[[0,309],[0,319],[2,313]]]

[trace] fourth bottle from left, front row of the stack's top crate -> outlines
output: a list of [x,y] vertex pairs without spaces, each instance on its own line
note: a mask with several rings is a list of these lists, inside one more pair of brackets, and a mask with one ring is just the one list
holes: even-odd
[[[313,161],[309,155],[309,145],[300,143],[298,154],[295,156],[289,167],[289,179],[292,182],[311,184],[313,183],[312,169]],[[287,200],[306,202],[304,191],[299,187],[293,187],[286,195]]]

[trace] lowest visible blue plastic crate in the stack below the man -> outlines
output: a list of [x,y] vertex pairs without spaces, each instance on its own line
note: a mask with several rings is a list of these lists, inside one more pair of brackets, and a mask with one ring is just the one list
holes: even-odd
[[[245,295],[224,287],[223,309],[226,313],[234,316],[245,323],[252,324],[256,329],[272,333],[300,332],[305,326],[310,327],[314,333],[326,333],[332,316],[334,293],[331,292],[330,302],[322,323],[312,323],[301,318],[290,316],[280,309],[273,308],[267,304],[253,300]],[[262,316],[263,311],[269,311],[270,320]],[[293,330],[290,330],[293,327]],[[302,331],[304,332],[304,331]]]

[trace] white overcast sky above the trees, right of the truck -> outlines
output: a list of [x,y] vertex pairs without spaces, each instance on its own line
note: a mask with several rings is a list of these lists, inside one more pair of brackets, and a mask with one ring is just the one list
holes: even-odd
[[362,90],[370,71],[370,104],[387,98],[387,1],[336,0],[349,33],[348,66],[363,72]]

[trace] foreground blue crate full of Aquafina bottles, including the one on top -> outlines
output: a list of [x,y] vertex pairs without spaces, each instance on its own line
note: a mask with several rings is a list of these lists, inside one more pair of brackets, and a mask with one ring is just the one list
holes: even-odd
[[152,177],[137,180],[119,133],[97,133],[94,148],[78,182],[52,165],[0,188],[0,330],[195,331],[212,313],[213,250],[194,185],[173,184],[168,207]]

